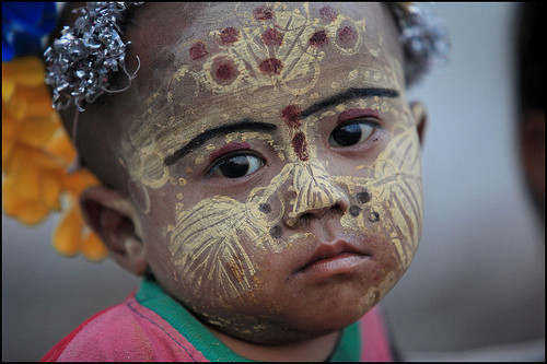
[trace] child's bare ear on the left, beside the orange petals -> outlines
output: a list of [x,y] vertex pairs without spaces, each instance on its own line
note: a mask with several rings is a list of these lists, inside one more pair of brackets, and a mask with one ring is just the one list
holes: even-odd
[[118,265],[142,275],[148,263],[132,204],[113,189],[93,186],[80,196],[80,206],[88,224],[101,236]]

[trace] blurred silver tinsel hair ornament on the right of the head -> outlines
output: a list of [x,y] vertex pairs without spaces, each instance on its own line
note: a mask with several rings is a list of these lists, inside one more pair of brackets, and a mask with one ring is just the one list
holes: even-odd
[[449,32],[423,3],[388,2],[399,28],[405,57],[405,82],[416,84],[435,61],[447,59]]

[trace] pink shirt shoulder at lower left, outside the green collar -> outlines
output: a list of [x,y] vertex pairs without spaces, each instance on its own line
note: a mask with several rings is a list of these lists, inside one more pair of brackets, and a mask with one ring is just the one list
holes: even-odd
[[92,316],[43,359],[57,361],[207,361],[135,295]]

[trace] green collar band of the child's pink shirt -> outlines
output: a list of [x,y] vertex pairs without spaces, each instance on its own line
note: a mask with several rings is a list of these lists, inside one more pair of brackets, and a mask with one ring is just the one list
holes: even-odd
[[[253,362],[245,359],[223,344],[200,321],[198,321],[183,305],[173,300],[158,285],[155,281],[143,279],[136,294],[137,301],[148,309],[153,310],[186,338],[198,351],[211,362]],[[344,329],[331,362],[357,362],[360,357],[361,338],[359,324],[354,322]]]

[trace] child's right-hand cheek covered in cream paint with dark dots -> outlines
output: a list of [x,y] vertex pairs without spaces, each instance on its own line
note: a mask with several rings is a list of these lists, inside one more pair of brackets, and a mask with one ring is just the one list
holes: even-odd
[[421,235],[423,199],[421,163],[416,132],[407,129],[395,136],[377,156],[368,177],[340,177],[351,196],[346,228],[374,232],[386,242],[399,267],[414,258]]

